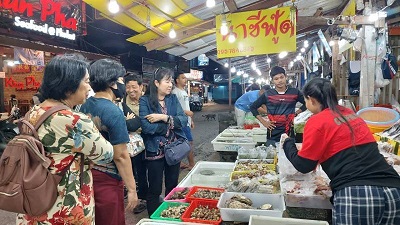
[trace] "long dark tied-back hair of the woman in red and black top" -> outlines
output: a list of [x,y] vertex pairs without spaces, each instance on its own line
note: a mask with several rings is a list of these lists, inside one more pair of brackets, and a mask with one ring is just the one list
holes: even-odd
[[[321,110],[329,108],[335,114],[340,116],[350,128],[351,133],[354,134],[353,128],[351,127],[349,121],[339,110],[336,89],[329,80],[324,78],[314,78],[310,80],[303,87],[303,95],[305,98],[315,98],[322,105]],[[352,135],[352,138],[354,138],[354,135]]]

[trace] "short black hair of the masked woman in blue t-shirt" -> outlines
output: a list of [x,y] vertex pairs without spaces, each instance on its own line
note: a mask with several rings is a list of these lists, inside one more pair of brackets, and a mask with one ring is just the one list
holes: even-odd
[[94,92],[105,91],[126,74],[121,63],[112,59],[99,59],[89,67],[90,86]]

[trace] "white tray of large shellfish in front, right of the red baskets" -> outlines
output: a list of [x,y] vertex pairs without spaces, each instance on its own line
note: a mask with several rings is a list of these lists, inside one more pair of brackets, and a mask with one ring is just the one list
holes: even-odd
[[249,222],[250,215],[282,217],[283,195],[225,192],[218,201],[223,221]]

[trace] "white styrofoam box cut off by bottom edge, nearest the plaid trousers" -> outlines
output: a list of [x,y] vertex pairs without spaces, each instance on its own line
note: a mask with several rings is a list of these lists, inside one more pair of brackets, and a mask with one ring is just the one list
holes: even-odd
[[251,215],[249,225],[329,225],[326,221]]

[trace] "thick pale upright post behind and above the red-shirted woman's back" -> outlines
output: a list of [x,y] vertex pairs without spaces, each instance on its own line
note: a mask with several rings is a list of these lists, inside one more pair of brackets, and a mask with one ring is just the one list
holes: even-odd
[[376,67],[376,30],[372,25],[362,26],[360,109],[373,106]]

